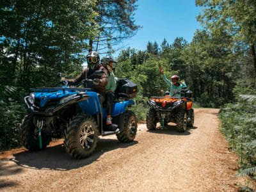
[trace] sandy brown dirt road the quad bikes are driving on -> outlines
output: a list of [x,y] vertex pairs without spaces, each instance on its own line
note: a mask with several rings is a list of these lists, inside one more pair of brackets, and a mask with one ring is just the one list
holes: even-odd
[[132,143],[100,138],[91,157],[74,160],[61,140],[41,152],[0,156],[0,191],[237,191],[237,157],[219,131],[218,109],[195,109],[184,133],[170,124]]

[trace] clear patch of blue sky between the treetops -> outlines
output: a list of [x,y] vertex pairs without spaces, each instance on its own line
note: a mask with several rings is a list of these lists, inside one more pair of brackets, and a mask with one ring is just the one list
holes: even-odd
[[[195,6],[195,0],[138,0],[137,4],[134,19],[143,28],[124,41],[124,49],[145,50],[148,41],[161,45],[164,38],[172,44],[180,36],[191,42],[194,32],[200,28],[195,18],[200,8]],[[118,56],[118,52],[113,56]]]

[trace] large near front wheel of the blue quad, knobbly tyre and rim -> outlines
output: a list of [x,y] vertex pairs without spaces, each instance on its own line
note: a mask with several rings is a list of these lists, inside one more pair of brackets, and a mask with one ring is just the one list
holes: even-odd
[[77,114],[64,131],[65,149],[74,159],[90,156],[97,140],[97,123],[90,115]]

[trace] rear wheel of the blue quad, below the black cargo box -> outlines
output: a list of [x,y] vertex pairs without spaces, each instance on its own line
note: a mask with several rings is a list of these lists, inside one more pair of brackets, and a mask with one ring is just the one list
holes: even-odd
[[124,113],[124,129],[116,134],[116,137],[121,142],[131,142],[135,139],[137,133],[137,119],[132,111]]

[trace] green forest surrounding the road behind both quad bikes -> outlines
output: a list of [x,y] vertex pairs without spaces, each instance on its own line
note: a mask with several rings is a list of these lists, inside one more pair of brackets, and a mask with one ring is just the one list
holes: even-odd
[[[20,146],[23,98],[29,88],[76,77],[88,51],[111,55],[140,30],[136,0],[2,1],[0,4],[0,150]],[[138,85],[134,111],[145,118],[148,97],[168,90],[161,76],[178,74],[195,106],[220,108],[221,131],[240,157],[241,174],[256,172],[256,1],[196,0],[202,24],[193,40],[177,36],[146,50],[123,49],[115,75]],[[159,86],[159,90],[154,89]],[[143,106],[143,108],[141,108]],[[255,175],[254,175],[255,176]]]

